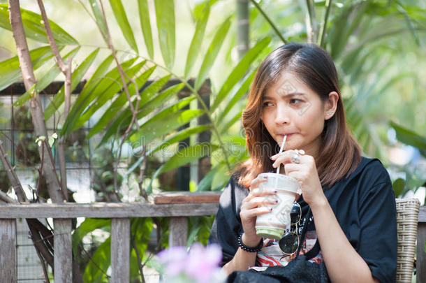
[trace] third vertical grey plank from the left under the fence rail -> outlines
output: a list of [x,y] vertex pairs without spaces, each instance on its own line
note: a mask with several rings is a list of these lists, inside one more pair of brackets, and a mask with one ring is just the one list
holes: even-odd
[[111,219],[111,282],[130,281],[130,219]]

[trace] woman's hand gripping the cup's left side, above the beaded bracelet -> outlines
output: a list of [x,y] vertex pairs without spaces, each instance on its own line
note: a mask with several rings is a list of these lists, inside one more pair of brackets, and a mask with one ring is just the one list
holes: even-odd
[[[272,205],[277,204],[276,198],[268,197],[277,194],[277,191],[259,189],[259,184],[267,178],[256,177],[251,181],[250,193],[242,200],[240,218],[244,234],[242,242],[249,247],[256,247],[261,237],[256,234],[256,217],[272,211]],[[265,206],[263,206],[265,205]]]

